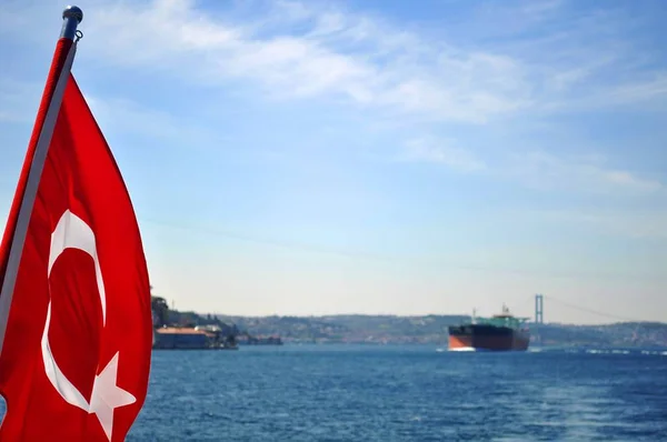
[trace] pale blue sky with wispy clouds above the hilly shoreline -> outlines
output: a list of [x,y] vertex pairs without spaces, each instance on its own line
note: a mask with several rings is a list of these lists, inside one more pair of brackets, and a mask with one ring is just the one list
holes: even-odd
[[[0,4],[0,214],[63,4]],[[231,314],[667,320],[667,7],[81,1],[156,294]]]

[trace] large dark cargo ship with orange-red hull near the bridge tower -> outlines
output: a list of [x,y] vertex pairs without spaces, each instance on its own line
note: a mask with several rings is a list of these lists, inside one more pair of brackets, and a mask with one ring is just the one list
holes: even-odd
[[525,318],[514,317],[507,307],[502,313],[491,318],[476,318],[461,325],[452,325],[449,331],[451,351],[526,351],[530,332]]

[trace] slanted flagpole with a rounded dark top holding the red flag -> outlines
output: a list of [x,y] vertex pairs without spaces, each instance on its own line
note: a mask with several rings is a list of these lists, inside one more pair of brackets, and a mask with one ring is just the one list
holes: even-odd
[[[77,36],[77,28],[83,20],[83,12],[76,6],[68,6],[62,11],[62,20],[60,38],[56,44],[32,135],[28,143],[26,160],[23,161],[23,168],[4,228],[2,243],[0,243],[0,354],[4,343],[7,321],[30,215],[32,214],[41,172],[47,160],[64,89],[70,77],[77,51],[77,40],[80,37]],[[8,248],[9,252],[7,252]]]

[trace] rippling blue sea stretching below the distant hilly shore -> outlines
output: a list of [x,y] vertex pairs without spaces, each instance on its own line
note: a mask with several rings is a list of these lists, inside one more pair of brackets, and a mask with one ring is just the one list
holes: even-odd
[[667,441],[667,351],[155,351],[128,441]]

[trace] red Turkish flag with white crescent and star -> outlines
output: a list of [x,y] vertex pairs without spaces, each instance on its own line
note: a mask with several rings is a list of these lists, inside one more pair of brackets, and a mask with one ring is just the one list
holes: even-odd
[[37,157],[26,160],[0,249],[0,283],[14,279],[0,353],[2,441],[122,441],[148,389],[152,318],[139,228],[111,151],[64,74],[14,274],[16,209]]

